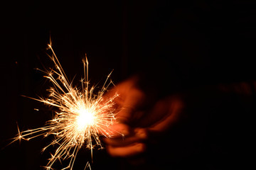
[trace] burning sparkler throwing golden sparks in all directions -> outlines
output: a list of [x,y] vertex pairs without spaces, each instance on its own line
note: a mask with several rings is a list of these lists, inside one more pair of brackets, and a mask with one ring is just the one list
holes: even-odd
[[[46,169],[53,169],[53,164],[57,160],[70,159],[70,163],[63,169],[73,169],[75,158],[82,146],[86,146],[91,151],[97,146],[102,148],[100,135],[111,137],[112,130],[110,125],[114,123],[114,98],[104,98],[105,91],[112,84],[110,74],[108,75],[102,89],[95,94],[95,87],[89,87],[88,61],[85,55],[83,60],[84,78],[81,79],[80,88],[73,87],[68,81],[60,62],[53,51],[51,42],[48,48],[52,55],[48,55],[55,65],[55,69],[45,72],[45,76],[53,83],[53,87],[48,89],[48,98],[33,98],[36,101],[45,103],[48,106],[58,108],[54,118],[46,123],[42,128],[26,130],[21,132],[18,129],[16,140],[31,140],[38,136],[47,137],[55,135],[55,140],[43,148],[45,151],[52,145],[57,145],[55,153],[51,158]],[[13,142],[14,142],[13,141]],[[88,162],[87,162],[88,166]],[[89,164],[90,167],[90,164]],[[86,168],[86,167],[85,167]]]

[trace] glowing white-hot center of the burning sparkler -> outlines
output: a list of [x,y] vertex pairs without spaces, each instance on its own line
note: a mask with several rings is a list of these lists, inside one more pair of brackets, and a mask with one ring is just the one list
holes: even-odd
[[79,130],[85,130],[88,125],[94,123],[95,116],[93,112],[88,111],[85,108],[82,108],[78,111],[77,124]]

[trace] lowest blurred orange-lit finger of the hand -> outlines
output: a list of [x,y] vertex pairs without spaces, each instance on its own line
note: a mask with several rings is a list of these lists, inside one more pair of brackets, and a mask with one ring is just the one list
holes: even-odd
[[112,147],[108,145],[106,149],[112,157],[132,157],[145,152],[146,145],[144,143],[136,143],[125,147]]

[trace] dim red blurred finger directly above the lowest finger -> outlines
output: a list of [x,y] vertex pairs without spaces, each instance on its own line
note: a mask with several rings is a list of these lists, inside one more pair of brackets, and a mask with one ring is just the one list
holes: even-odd
[[127,137],[119,138],[105,138],[104,142],[106,145],[111,145],[112,147],[124,147],[126,145],[132,145],[138,142],[144,142],[148,138],[148,132],[145,128],[136,128],[132,135]]

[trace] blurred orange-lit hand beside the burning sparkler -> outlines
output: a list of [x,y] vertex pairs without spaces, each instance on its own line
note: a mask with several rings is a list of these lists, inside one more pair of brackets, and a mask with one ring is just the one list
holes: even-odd
[[111,127],[112,137],[104,140],[112,157],[133,157],[144,153],[146,144],[163,135],[181,117],[181,98],[169,96],[154,101],[138,88],[137,81],[136,77],[128,79],[107,94],[119,94],[115,98],[117,123]]

